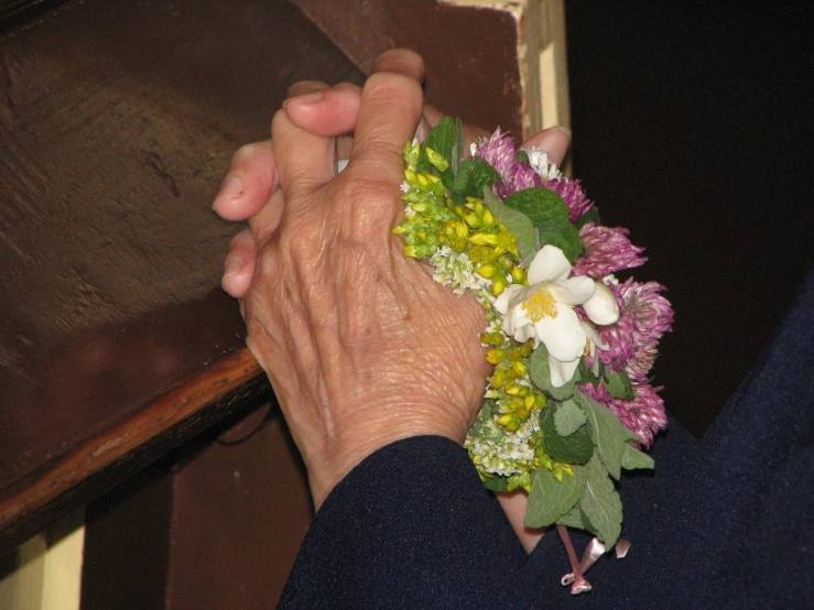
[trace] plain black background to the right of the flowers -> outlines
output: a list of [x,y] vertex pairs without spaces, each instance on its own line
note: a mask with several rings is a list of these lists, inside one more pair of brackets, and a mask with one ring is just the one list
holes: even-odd
[[676,311],[656,383],[702,434],[814,260],[811,2],[566,2],[574,175]]

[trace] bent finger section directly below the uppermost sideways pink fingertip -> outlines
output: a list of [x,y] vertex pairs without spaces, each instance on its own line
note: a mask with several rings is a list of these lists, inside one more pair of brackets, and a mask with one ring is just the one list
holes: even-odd
[[294,124],[285,108],[271,121],[280,185],[292,210],[336,175],[336,141]]

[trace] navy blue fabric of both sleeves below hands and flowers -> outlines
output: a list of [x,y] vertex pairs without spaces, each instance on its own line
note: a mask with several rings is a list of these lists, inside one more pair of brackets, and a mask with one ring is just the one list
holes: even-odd
[[464,449],[417,437],[334,489],[280,607],[814,608],[813,328],[810,273],[706,436],[672,422],[656,472],[622,481],[633,546],[591,568],[590,593],[558,585],[571,571],[558,536],[524,554]]

